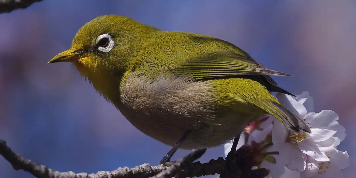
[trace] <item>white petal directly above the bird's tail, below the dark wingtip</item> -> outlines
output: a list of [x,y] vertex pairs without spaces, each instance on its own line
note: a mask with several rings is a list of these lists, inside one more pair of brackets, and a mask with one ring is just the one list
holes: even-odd
[[303,104],[300,104],[297,100],[292,98],[292,96],[283,93],[277,93],[276,98],[284,108],[289,109],[299,118],[303,118],[307,114],[307,109],[305,109]]

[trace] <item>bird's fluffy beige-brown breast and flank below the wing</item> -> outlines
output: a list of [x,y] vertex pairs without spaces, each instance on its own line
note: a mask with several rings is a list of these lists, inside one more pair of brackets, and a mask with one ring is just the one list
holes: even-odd
[[133,126],[173,145],[187,130],[213,125],[215,94],[211,83],[174,75],[150,78],[135,72],[121,86],[120,112]]

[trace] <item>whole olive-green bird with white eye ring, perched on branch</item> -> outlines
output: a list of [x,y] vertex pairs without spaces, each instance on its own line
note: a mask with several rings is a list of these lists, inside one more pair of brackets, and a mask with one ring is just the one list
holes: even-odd
[[72,47],[48,63],[74,67],[138,130],[178,148],[209,148],[235,139],[246,125],[272,115],[292,132],[307,125],[271,94],[288,95],[268,69],[219,38],[163,31],[119,15],[86,23]]

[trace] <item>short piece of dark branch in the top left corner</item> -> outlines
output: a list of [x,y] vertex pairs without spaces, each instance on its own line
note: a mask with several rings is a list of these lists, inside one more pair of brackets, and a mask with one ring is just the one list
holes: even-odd
[[0,13],[23,9],[42,0],[0,0]]

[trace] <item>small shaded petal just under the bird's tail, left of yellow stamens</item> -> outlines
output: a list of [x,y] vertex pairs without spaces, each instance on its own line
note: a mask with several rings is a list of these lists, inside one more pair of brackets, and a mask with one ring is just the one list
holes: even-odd
[[289,130],[278,119],[274,120],[272,128],[272,142],[273,145],[279,147],[286,142]]

